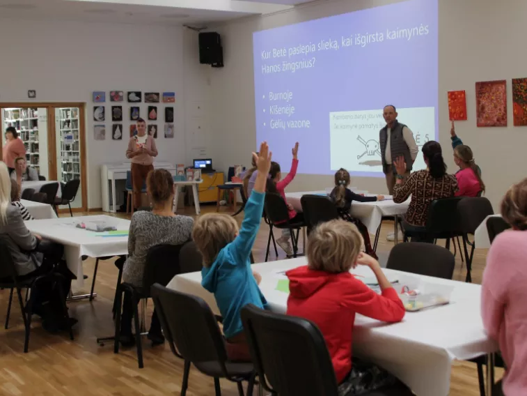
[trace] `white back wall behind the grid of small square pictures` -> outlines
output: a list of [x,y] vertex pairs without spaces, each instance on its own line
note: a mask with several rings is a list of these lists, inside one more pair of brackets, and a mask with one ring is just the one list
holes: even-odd
[[[125,160],[128,142],[128,102],[123,105],[123,139],[111,139],[109,91],[174,91],[175,137],[164,138],[164,103],[158,107],[158,160],[189,164],[185,146],[186,92],[201,86],[196,34],[184,28],[57,21],[0,20],[2,54],[0,102],[30,102],[28,89],[36,89],[38,102],[86,102],[88,146],[88,207],[100,208],[100,164]],[[184,45],[184,40],[192,45]],[[192,63],[196,66],[194,73]],[[186,69],[186,71],[184,71]],[[185,75],[185,77],[184,77]],[[93,139],[92,91],[107,91],[106,140]],[[207,95],[198,90],[199,101]],[[136,104],[133,104],[136,105]],[[150,104],[152,105],[152,104]],[[141,103],[147,119],[147,103]],[[154,121],[152,121],[153,123]],[[148,121],[147,121],[148,123]]]

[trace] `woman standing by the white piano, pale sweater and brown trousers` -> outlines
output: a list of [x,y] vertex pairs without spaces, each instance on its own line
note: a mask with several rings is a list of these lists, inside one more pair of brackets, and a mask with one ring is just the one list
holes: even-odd
[[136,123],[137,135],[130,138],[126,151],[126,158],[132,160],[132,210],[141,206],[141,189],[146,182],[148,172],[154,170],[154,157],[157,157],[157,148],[152,136],[146,134],[146,123],[138,119]]

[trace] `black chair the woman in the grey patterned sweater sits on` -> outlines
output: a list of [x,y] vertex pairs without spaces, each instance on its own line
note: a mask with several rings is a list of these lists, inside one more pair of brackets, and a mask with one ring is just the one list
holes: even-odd
[[150,298],[150,287],[158,283],[166,286],[175,275],[181,273],[180,251],[183,245],[156,245],[148,250],[146,255],[146,265],[143,273],[143,287],[134,287],[127,282],[119,284],[117,287],[117,307],[116,307],[116,333],[113,337],[113,351],[119,352],[120,335],[120,312],[123,306],[123,293],[126,291],[132,296],[134,307],[134,326],[136,331],[136,348],[139,368],[143,365],[143,345],[141,343],[141,326],[139,325],[139,301]]

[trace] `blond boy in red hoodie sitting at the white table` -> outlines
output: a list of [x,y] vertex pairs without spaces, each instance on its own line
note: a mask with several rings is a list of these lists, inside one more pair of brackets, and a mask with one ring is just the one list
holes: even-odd
[[[352,365],[355,314],[398,322],[405,312],[379,262],[360,252],[362,242],[355,225],[344,220],[332,220],[313,229],[308,237],[308,265],[286,273],[290,280],[287,313],[313,321],[320,328],[339,383],[339,395],[359,395],[394,385],[402,388],[397,395],[411,395],[381,367],[357,358]],[[371,268],[381,294],[349,273],[358,264]]]

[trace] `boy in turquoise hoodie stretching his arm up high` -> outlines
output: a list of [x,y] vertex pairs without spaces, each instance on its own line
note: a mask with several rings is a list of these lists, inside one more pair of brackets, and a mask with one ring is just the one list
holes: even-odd
[[245,205],[242,229],[238,229],[232,216],[207,213],[196,220],[192,231],[192,238],[203,255],[201,284],[214,294],[223,317],[228,358],[245,362],[251,361],[251,356],[240,311],[247,304],[260,308],[267,304],[258,287],[261,277],[253,273],[249,260],[262,220],[265,182],[271,167],[267,143],[260,146],[255,162],[258,177]]

